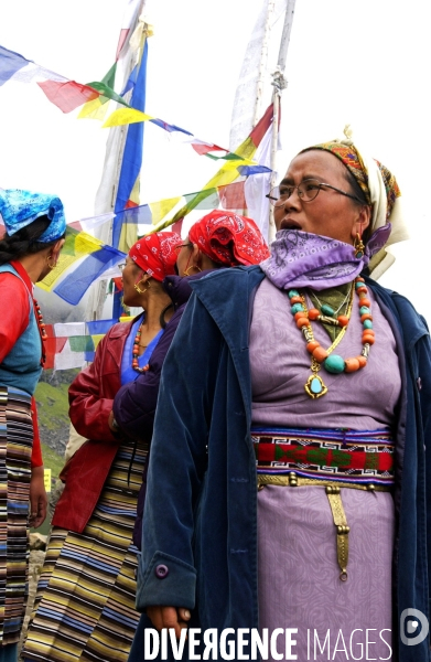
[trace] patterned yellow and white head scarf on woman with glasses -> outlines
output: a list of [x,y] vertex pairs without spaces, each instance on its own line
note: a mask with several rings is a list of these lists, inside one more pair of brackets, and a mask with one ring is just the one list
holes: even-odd
[[353,174],[367,203],[371,205],[371,236],[380,227],[389,224],[390,234],[385,247],[375,253],[369,261],[370,274],[377,279],[395,261],[395,257],[387,252],[387,248],[391,244],[409,238],[399,200],[401,193],[394,174],[379,161],[359,151],[351,140],[348,130],[345,132],[346,139],[308,147],[300,153],[311,149],[322,149],[337,157]]

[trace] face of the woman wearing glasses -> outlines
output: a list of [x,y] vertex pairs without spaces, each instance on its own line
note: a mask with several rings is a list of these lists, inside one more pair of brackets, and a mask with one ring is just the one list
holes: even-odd
[[[283,184],[298,185],[306,179],[331,184],[354,195],[345,166],[330,152],[310,150],[298,154],[290,163],[280,190]],[[362,234],[369,224],[369,207],[323,188],[314,200],[303,202],[295,189],[282,205],[274,207],[274,222],[277,229],[302,229],[353,244],[356,233]]]

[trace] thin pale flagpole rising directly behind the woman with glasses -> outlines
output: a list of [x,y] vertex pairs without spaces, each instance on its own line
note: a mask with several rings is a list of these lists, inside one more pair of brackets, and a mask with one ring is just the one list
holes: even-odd
[[[272,74],[272,104],[273,104],[273,129],[272,129],[272,142],[271,142],[271,189],[276,185],[277,178],[277,147],[279,138],[279,122],[280,122],[280,97],[283,89],[287,88],[288,82],[284,77],[285,60],[288,56],[288,47],[290,42],[290,33],[292,31],[294,6],[297,0],[288,0],[283,31],[281,34],[279,57],[277,68]],[[276,237],[276,224],[273,221],[273,206],[269,206],[269,243]]]

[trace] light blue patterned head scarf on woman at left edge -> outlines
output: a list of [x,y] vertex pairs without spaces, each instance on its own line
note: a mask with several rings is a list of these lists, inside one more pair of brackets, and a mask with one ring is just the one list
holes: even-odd
[[60,239],[66,229],[63,203],[60,197],[46,193],[32,193],[21,189],[0,189],[0,214],[7,234],[13,235],[40,216],[51,221],[37,242],[47,244]]

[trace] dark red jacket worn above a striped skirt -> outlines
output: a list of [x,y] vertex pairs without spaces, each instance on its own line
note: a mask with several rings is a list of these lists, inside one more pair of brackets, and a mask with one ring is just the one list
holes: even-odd
[[71,384],[71,420],[77,433],[89,440],[61,473],[66,484],[55,508],[54,526],[82,533],[104,489],[120,444],[110,431],[108,416],[121,386],[121,356],[132,323],[114,324],[100,341],[91,365]]

